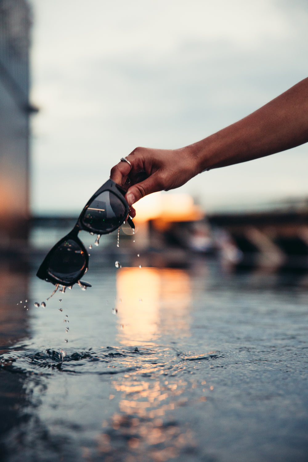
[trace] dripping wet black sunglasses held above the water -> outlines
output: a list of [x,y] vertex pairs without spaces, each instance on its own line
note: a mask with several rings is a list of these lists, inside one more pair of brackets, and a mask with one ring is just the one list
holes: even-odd
[[[125,194],[126,191],[114,181],[104,183],[87,202],[72,231],[48,252],[36,276],[56,286],[80,284],[80,278],[88,269],[89,255],[78,233],[84,230],[99,237],[115,231],[125,220],[134,229]],[[85,282],[81,285],[90,286]]]

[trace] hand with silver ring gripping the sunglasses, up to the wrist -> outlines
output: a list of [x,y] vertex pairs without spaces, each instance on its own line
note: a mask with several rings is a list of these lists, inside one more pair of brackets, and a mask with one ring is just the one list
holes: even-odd
[[[130,206],[145,195],[178,188],[199,173],[196,158],[189,147],[137,147],[126,158],[130,164],[119,162],[111,169],[110,178],[121,186],[130,185],[125,196]],[[133,208],[131,211],[134,216]]]

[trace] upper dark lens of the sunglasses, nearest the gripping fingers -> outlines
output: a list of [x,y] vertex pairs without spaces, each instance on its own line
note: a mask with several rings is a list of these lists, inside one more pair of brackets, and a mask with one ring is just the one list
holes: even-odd
[[91,202],[81,220],[87,228],[103,234],[114,231],[125,218],[124,203],[111,191],[104,191]]

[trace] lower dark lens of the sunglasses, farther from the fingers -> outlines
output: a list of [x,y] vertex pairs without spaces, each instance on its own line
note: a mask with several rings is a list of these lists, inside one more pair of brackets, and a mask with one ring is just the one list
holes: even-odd
[[85,265],[85,251],[77,242],[67,239],[52,253],[48,274],[69,285],[83,275]]

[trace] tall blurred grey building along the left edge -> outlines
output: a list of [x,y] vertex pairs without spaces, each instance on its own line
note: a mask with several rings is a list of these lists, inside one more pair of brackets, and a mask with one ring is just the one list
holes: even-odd
[[0,246],[27,238],[30,7],[0,0]]

